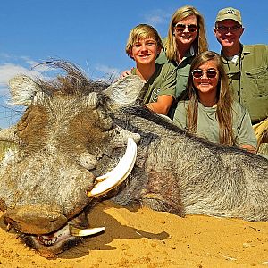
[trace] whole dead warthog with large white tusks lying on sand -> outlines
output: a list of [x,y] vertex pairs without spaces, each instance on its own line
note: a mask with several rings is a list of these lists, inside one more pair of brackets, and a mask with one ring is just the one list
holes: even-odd
[[0,140],[17,144],[0,169],[4,222],[42,255],[104,230],[88,229],[87,219],[103,198],[180,216],[268,220],[267,159],[206,142],[150,113],[139,105],[137,76],[108,86],[71,63],[48,64],[66,74],[10,81],[13,103],[27,109],[0,132]]

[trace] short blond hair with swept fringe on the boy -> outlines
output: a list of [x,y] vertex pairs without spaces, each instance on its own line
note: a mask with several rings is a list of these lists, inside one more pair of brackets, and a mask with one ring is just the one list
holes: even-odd
[[[130,30],[129,38],[126,45],[126,53],[130,56],[133,45],[140,39],[153,38],[159,51],[162,49],[162,40],[157,30],[148,24],[138,24]],[[131,56],[130,56],[131,57]]]

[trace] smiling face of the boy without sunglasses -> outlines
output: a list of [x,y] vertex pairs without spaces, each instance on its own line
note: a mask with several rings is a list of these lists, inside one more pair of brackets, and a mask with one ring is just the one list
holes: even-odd
[[154,38],[138,39],[130,51],[130,56],[135,60],[137,65],[139,64],[155,64],[157,54],[159,54],[161,48],[157,47]]

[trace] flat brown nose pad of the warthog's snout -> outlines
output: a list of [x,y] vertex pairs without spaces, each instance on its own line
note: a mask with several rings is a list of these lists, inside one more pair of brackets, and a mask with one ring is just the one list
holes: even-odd
[[67,218],[56,205],[23,205],[8,210],[4,215],[6,222],[24,233],[45,234],[61,228]]

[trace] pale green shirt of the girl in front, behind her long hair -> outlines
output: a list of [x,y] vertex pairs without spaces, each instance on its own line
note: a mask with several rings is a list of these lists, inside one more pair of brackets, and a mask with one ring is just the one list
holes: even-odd
[[[180,101],[174,114],[174,123],[182,129],[187,130],[187,107],[189,101]],[[216,118],[217,106],[205,107],[198,103],[197,136],[209,141],[220,143],[219,122]],[[249,113],[237,102],[232,105],[232,130],[235,145],[252,145],[256,147],[255,133],[251,125]]]

